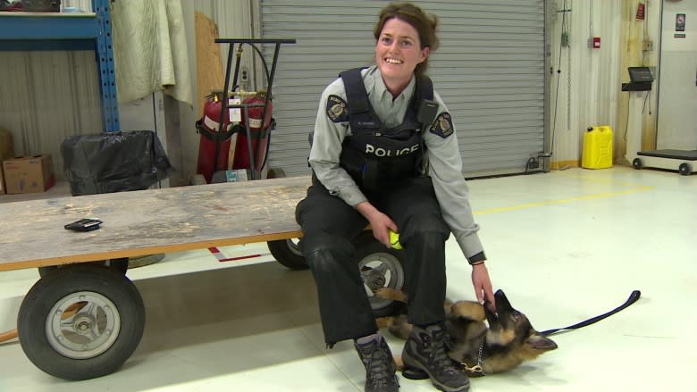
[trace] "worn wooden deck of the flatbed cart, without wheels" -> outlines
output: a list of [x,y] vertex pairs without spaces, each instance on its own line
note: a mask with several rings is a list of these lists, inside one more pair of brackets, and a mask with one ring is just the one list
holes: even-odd
[[[57,197],[0,204],[0,271],[300,236],[308,177]],[[101,228],[64,229],[97,217]]]

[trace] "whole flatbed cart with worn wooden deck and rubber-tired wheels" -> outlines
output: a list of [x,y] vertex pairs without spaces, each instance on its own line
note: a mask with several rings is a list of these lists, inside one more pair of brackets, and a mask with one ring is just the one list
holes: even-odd
[[[267,242],[272,254],[278,245],[288,252],[287,240],[301,234],[295,207],[309,184],[309,177],[259,179],[0,204],[0,271],[62,266],[42,274],[22,301],[17,330],[24,354],[63,379],[116,371],[139,345],[145,305],[122,271],[88,262],[254,242]],[[103,221],[101,228],[64,229],[88,217]],[[356,244],[366,289],[401,289],[401,252],[370,231]],[[274,254],[291,269],[307,268],[292,255],[299,261]],[[372,296],[371,304],[376,314],[389,311],[390,301]]]

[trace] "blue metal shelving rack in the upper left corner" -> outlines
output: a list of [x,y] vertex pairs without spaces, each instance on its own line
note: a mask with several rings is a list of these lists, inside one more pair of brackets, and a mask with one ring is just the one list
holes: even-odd
[[94,50],[104,130],[120,130],[109,0],[92,0],[92,13],[0,13],[0,51],[9,50]]

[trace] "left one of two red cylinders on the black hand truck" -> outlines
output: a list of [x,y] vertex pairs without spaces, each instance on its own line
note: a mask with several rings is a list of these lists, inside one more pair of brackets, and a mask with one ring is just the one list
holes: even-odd
[[[230,116],[223,114],[223,127],[220,126],[220,114],[223,110],[223,93],[214,92],[206,96],[204,113],[201,120],[196,122],[197,132],[201,135],[198,142],[197,174],[206,178],[206,183],[211,183],[215,171],[224,171],[228,168],[228,154],[230,153],[230,138],[234,130],[230,128]],[[217,164],[215,163],[217,156]]]

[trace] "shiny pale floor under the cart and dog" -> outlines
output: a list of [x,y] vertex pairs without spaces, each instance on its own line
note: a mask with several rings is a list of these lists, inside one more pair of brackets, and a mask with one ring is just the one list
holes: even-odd
[[[697,176],[626,167],[469,182],[495,288],[535,328],[597,324],[555,336],[558,350],[472,391],[695,391]],[[448,295],[472,299],[470,267],[448,242]],[[65,381],[39,371],[15,340],[0,344],[0,391],[361,391],[350,342],[323,344],[308,271],[273,262],[265,244],[167,254],[128,276],[146,304],[145,334],[119,371]],[[235,267],[235,268],[231,268]],[[0,331],[16,328],[35,270],[0,273]],[[387,335],[387,331],[384,331]],[[394,353],[402,342],[388,336]],[[434,390],[401,378],[402,391]]]

